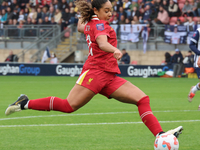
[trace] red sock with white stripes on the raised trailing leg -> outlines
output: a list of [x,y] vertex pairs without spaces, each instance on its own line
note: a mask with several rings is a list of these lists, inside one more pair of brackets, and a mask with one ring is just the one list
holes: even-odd
[[58,97],[46,97],[30,100],[28,103],[28,108],[43,111],[55,110],[65,113],[71,113],[74,111],[69,105],[67,99],[61,99]]

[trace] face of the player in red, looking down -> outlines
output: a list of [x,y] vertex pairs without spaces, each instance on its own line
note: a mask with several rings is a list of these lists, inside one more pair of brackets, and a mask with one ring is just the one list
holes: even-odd
[[105,21],[110,21],[110,18],[112,17],[112,4],[110,1],[107,1],[102,5],[102,8],[97,10],[96,8],[94,9],[94,13],[97,15],[99,20],[105,20]]

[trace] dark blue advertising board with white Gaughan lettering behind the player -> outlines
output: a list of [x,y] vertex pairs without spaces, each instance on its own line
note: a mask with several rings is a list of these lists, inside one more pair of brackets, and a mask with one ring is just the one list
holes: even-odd
[[[79,76],[83,64],[0,63],[0,75],[19,76]],[[171,66],[119,65],[121,77],[154,77]]]

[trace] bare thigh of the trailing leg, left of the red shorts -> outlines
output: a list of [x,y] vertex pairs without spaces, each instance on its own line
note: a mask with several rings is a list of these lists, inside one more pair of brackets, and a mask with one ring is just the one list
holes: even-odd
[[94,95],[95,93],[90,89],[75,84],[75,86],[70,91],[67,100],[70,106],[73,108],[73,110],[77,110],[86,103],[88,103]]

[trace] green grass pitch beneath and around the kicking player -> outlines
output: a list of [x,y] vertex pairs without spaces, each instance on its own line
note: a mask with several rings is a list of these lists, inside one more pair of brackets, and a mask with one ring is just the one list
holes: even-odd
[[[197,111],[200,93],[197,92],[192,103],[187,101],[189,89],[198,82],[197,79],[126,79],[149,95],[151,108],[159,121],[169,121],[161,122],[164,131],[179,125],[184,127],[183,134],[179,137],[180,150],[200,149],[200,111]],[[27,94],[30,99],[47,96],[66,98],[76,80],[77,77],[0,76],[0,149],[153,150],[155,137],[144,124],[138,123],[141,119],[137,107],[114,99],[109,100],[101,95],[96,95],[73,114],[34,110],[25,110],[10,116],[4,114],[7,106],[20,94]],[[30,116],[36,117],[30,118]],[[173,122],[177,120],[180,122]],[[116,124],[116,122],[136,123]],[[80,123],[92,124],[80,125]],[[41,124],[47,126],[38,126]],[[24,126],[8,127],[8,125]]]

